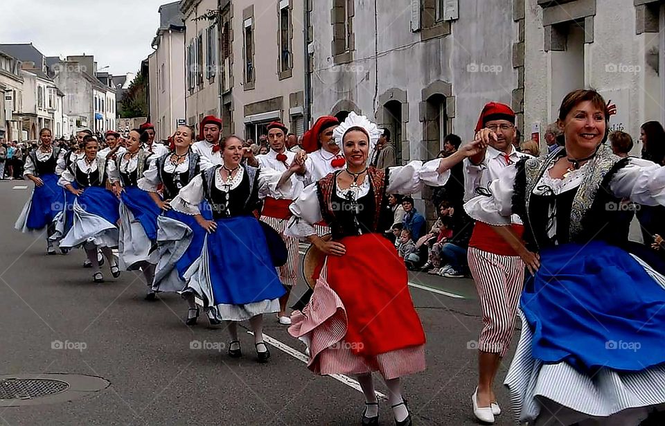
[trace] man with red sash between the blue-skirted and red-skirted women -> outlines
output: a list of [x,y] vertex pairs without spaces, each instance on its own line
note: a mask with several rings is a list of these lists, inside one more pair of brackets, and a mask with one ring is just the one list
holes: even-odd
[[[267,125],[268,142],[270,144],[270,151],[267,154],[258,155],[256,159],[261,168],[271,168],[278,172],[285,172],[289,170],[290,166],[296,162],[302,163],[305,158],[305,152],[294,154],[286,149],[286,134],[288,130],[285,125],[278,121],[274,121]],[[302,171],[302,168],[299,168]],[[302,188],[303,184],[295,176],[291,176],[291,184],[294,188]],[[289,301],[291,288],[296,285],[296,274],[298,268],[298,240],[296,238],[285,236],[284,231],[288,223],[288,218],[291,217],[289,206],[293,202],[295,196],[299,194],[299,190],[294,190],[294,197],[274,197],[269,196],[265,198],[263,210],[261,211],[260,220],[269,224],[274,228],[284,240],[284,244],[289,251],[287,263],[279,267],[279,279],[286,289],[286,293],[279,300],[279,313],[277,319],[279,323],[287,326],[291,323],[291,319],[286,312],[286,305]]]

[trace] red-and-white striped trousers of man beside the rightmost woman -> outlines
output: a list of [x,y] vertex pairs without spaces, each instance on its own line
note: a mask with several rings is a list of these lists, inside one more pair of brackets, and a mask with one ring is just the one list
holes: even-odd
[[504,357],[513,339],[524,262],[520,256],[502,256],[475,247],[469,247],[468,260],[483,310],[478,349]]

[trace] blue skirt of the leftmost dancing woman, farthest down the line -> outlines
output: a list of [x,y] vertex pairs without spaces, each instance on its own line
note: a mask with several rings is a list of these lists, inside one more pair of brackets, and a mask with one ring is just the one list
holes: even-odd
[[26,220],[26,227],[30,230],[44,229],[64,208],[64,190],[57,186],[58,177],[49,174],[41,176],[41,179],[44,185],[35,185],[30,199],[30,210]]

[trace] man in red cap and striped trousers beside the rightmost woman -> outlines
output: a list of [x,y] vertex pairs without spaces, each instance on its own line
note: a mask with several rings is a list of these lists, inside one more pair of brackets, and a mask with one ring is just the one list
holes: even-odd
[[[502,103],[488,103],[483,108],[476,132],[488,129],[493,139],[486,149],[464,161],[465,199],[486,190],[490,182],[506,168],[528,154],[517,152],[515,112]],[[521,235],[520,218],[513,218],[513,227]],[[478,348],[478,387],[472,396],[475,416],[493,422],[501,414],[493,391],[499,363],[508,352],[513,338],[517,301],[524,281],[524,263],[515,250],[484,222],[475,225],[468,249],[468,262],[483,310],[483,329]],[[460,273],[459,271],[456,271]]]

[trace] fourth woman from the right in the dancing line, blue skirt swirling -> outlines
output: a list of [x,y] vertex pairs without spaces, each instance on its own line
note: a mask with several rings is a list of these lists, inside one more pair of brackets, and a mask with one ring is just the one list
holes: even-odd
[[[170,201],[178,195],[202,170],[213,164],[190,149],[193,143],[194,129],[181,125],[172,136],[170,152],[150,163],[143,172],[138,186],[152,197],[163,211],[157,218],[157,249],[159,262],[154,272],[152,290],[154,292],[178,292],[189,303],[186,324],[194,326],[199,317],[199,308],[192,292],[183,292],[186,287],[184,274],[194,261],[201,256],[206,230],[199,227],[194,216],[180,213],[170,208]],[[157,192],[161,186],[163,199]],[[204,219],[211,220],[213,215],[204,201],[199,206]],[[211,323],[218,321],[209,317]]]

